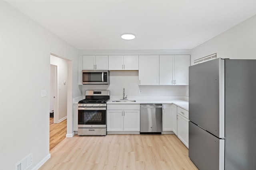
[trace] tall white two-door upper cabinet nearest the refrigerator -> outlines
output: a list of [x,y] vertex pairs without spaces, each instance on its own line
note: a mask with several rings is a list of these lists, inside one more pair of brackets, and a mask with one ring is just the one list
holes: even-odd
[[188,85],[190,55],[159,56],[160,85]]

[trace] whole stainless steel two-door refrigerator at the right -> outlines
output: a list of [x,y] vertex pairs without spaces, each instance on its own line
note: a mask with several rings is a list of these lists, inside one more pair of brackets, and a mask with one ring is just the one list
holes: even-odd
[[189,157],[200,170],[256,168],[256,60],[189,67]]

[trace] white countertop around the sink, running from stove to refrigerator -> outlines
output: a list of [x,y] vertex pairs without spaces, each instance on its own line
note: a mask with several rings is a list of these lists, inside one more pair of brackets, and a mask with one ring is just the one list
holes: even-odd
[[[136,100],[136,99],[135,99]],[[186,100],[146,100],[138,99],[136,102],[113,102],[114,100],[109,100],[107,104],[175,104],[179,107],[188,111],[188,101]]]

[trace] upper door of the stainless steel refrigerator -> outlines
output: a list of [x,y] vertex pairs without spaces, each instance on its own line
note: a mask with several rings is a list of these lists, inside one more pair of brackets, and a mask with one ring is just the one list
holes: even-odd
[[224,60],[189,67],[189,120],[218,138],[224,128]]

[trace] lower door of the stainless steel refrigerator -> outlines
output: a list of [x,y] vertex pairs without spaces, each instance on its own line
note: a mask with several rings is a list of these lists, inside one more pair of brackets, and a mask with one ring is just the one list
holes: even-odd
[[188,156],[200,170],[224,170],[225,139],[189,122]]

